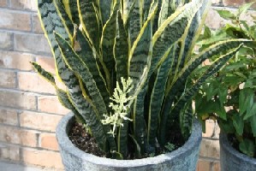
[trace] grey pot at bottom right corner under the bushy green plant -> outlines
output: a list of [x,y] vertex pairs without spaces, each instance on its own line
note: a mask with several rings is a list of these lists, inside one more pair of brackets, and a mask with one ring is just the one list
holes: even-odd
[[220,133],[220,164],[222,171],[255,171],[256,159],[235,150],[226,134]]

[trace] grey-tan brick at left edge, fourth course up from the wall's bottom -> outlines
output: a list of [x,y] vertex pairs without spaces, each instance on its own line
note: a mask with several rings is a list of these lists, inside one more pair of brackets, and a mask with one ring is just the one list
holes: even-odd
[[17,91],[0,91],[0,106],[15,109],[37,109],[36,97],[30,93]]

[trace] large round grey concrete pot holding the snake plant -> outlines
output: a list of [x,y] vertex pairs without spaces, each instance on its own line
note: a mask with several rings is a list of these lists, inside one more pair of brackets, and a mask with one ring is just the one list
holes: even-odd
[[136,160],[115,160],[79,150],[67,136],[73,123],[74,115],[68,114],[57,126],[57,141],[67,171],[193,171],[196,168],[202,139],[198,121],[194,121],[192,134],[181,148],[163,155]]

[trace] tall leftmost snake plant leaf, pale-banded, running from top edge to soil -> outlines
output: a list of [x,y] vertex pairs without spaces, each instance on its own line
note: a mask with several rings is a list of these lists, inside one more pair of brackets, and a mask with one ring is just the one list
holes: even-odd
[[68,33],[63,26],[63,23],[57,15],[57,9],[55,8],[52,0],[42,1],[39,0],[39,19],[41,20],[46,38],[48,38],[53,56],[56,60],[57,74],[63,80],[63,83],[68,88],[68,97],[71,99],[75,108],[79,111],[80,115],[86,120],[88,127],[91,127],[92,134],[97,139],[98,145],[104,149],[106,137],[104,135],[101,122],[98,120],[97,115],[92,109],[92,105],[86,101],[82,96],[79,80],[76,78],[63,61],[63,57],[60,49],[58,48],[57,41],[54,38],[54,31],[58,32],[63,38],[68,38]]

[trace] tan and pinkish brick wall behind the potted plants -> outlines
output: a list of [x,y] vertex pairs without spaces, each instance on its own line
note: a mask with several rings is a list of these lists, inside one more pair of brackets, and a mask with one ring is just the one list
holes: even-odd
[[[0,159],[62,169],[55,127],[68,113],[57,102],[54,88],[29,62],[54,73],[54,61],[36,12],[36,0],[0,0]],[[248,1],[214,0],[214,8]],[[256,7],[256,6],[254,6]],[[255,13],[255,12],[254,12]],[[222,27],[211,9],[208,26]],[[198,171],[219,170],[219,129],[207,122]]]

